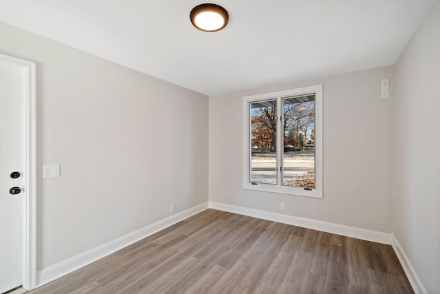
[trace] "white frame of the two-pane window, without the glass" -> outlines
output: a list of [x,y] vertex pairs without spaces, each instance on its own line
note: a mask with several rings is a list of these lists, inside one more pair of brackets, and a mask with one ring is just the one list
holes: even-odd
[[[283,98],[303,94],[315,94],[315,187],[305,190],[303,187],[283,186],[280,168],[283,167]],[[254,185],[250,182],[250,103],[277,99],[278,125],[276,128],[276,166],[277,185]],[[322,198],[322,84],[309,87],[300,87],[252,96],[243,96],[243,189],[284,193],[297,196]]]

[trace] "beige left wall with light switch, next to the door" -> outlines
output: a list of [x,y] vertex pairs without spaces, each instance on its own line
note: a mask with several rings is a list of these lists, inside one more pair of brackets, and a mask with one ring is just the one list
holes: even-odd
[[0,40],[37,68],[37,269],[208,200],[207,96],[4,23]]

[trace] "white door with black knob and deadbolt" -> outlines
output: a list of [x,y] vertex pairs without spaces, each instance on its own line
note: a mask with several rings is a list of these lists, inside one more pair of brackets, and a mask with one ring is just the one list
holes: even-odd
[[0,293],[23,284],[26,81],[0,59]]

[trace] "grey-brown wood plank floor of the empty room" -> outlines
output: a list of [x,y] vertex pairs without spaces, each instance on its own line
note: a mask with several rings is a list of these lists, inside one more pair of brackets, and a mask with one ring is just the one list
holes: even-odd
[[39,293],[414,293],[389,245],[207,209]]

